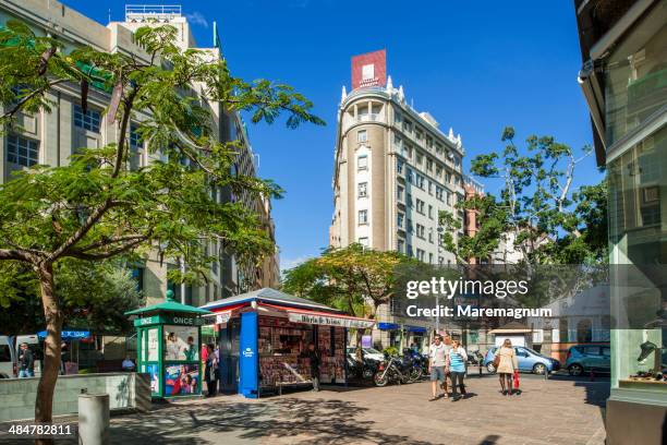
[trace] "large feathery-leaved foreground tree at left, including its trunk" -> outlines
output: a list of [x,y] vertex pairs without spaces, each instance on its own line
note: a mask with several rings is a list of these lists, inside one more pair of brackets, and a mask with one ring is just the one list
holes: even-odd
[[[279,196],[281,190],[233,168],[239,145],[218,140],[211,105],[248,112],[253,122],[270,123],[286,112],[289,128],[324,123],[291,87],[246,83],[233,77],[223,60],[180,49],[172,26],[142,27],[134,40],[143,53],[89,47],[68,53],[57,39],[35,35],[25,24],[10,21],[0,29],[3,129],[16,127],[20,113],[49,112],[54,104],[46,93],[66,84],[81,87],[82,108],[89,86],[110,92],[105,118],[117,130],[114,141],[77,151],[66,166],[34,166],[0,188],[0,263],[34,274],[48,330],[38,422],[51,421],[60,363],[64,313],[57,298],[58,264],[157,252],[186,262],[189,276],[178,269],[170,275],[183,280],[206,276],[214,260],[205,249],[209,240],[256,256],[272,252],[253,211],[214,199],[211,189],[251,197]],[[131,123],[158,158],[135,170],[129,168]]]

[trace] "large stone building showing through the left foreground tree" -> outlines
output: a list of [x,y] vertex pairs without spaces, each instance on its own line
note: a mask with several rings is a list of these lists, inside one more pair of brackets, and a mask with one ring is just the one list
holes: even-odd
[[[179,5],[126,7],[122,22],[111,22],[104,26],[54,0],[0,1],[0,25],[12,19],[27,23],[37,34],[48,34],[58,38],[64,44],[65,50],[87,45],[100,51],[133,53],[140,59],[146,58],[144,50],[134,44],[133,32],[141,26],[167,23],[177,28],[178,45],[182,49],[197,48],[190,24]],[[197,49],[207,51],[213,60],[222,57],[217,46]],[[192,94],[197,94],[201,88],[196,84],[191,87]],[[77,148],[102,147],[117,139],[117,125],[108,124],[106,119],[102,119],[102,111],[110,100],[108,92],[92,87],[85,112],[80,106],[80,88],[76,85],[59,84],[48,93],[48,96],[54,104],[51,112],[22,115],[19,119],[23,131],[0,136],[0,147],[2,147],[0,181],[8,181],[12,171],[35,164],[66,165],[70,155]],[[214,130],[218,132],[220,141],[242,141],[237,161],[239,171],[243,175],[256,175],[256,163],[241,117],[223,109],[220,104],[209,103],[208,106],[214,115]],[[137,116],[137,119],[141,121],[142,116]],[[133,124],[130,127],[133,155],[130,168],[146,166],[159,155],[148,154],[145,144],[134,133],[135,127]],[[250,196],[232,196],[225,190],[211,193],[216,193],[220,202],[241,200],[250,208],[256,209],[270,237],[275,239],[270,202]],[[178,258],[165,258],[162,262],[156,255],[149,255],[143,264],[137,265],[133,272],[140,288],[147,297],[147,304],[162,300],[168,288],[171,288],[182,302],[201,305],[240,291],[277,285],[277,274],[264,272],[264,268],[277,269],[277,256],[267,258],[266,266],[251,269],[239,267],[234,253],[225,251],[216,242],[210,242],[208,249],[210,252],[219,252],[220,261],[211,265],[210,279],[208,284],[202,286],[179,286],[168,282],[167,272],[170,268],[186,267],[180,264]],[[265,275],[268,278],[265,279]]]

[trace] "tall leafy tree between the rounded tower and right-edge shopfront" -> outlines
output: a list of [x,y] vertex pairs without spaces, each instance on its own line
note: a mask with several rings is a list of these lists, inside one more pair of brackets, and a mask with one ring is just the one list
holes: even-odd
[[471,171],[502,181],[498,197],[475,196],[457,203],[458,208],[478,213],[480,227],[473,236],[454,239],[448,232],[460,222],[441,212],[442,245],[461,263],[488,260],[507,234],[514,249],[531,264],[596,264],[607,260],[606,183],[573,190],[577,166],[590,147],[575,153],[551,136],[531,135],[525,148],[514,143],[514,130],[502,132],[501,152],[477,155]]

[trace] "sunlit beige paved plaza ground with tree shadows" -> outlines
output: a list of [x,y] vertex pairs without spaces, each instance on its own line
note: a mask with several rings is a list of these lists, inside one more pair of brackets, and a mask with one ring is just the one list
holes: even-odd
[[457,402],[428,401],[428,382],[293,392],[259,400],[182,400],[149,413],[112,418],[111,443],[604,444],[602,407],[608,381],[526,376],[521,385],[520,396],[507,397],[494,376],[471,377],[469,397]]

